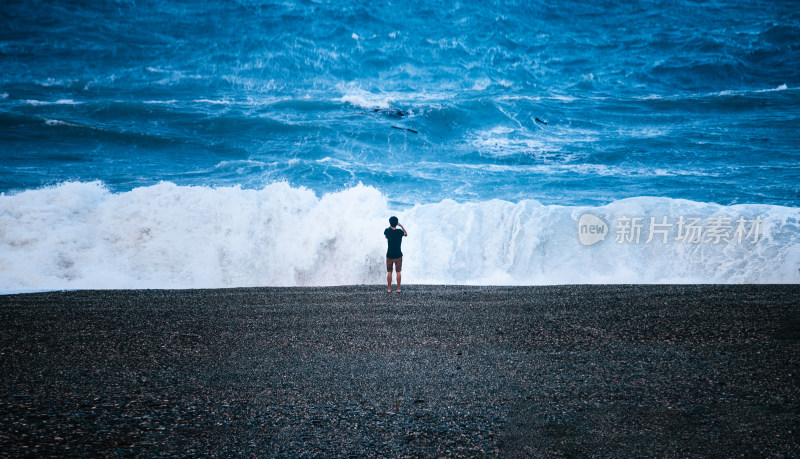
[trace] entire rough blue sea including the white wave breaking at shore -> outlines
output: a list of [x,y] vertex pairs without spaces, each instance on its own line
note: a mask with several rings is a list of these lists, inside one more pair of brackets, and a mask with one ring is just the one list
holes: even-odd
[[800,2],[85,3],[0,9],[0,289],[800,281]]

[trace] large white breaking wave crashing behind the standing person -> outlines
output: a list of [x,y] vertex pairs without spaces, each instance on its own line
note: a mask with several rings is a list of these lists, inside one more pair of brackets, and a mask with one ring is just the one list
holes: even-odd
[[[608,225],[585,246],[578,221]],[[800,282],[800,209],[640,197],[600,207],[445,200],[392,210],[356,186],[322,197],[274,183],[260,190],[171,183],[109,192],[65,183],[0,195],[0,290],[379,284],[382,232],[409,231],[404,281],[447,284]],[[682,243],[681,216],[730,217],[732,240]],[[643,218],[639,242],[620,222]],[[673,224],[647,243],[649,218]],[[760,219],[757,241],[736,220]],[[624,235],[624,233],[622,233]]]

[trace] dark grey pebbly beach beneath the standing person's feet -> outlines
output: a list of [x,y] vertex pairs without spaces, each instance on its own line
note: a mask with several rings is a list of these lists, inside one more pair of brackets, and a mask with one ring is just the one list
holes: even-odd
[[800,455],[800,286],[0,297],[0,456]]

